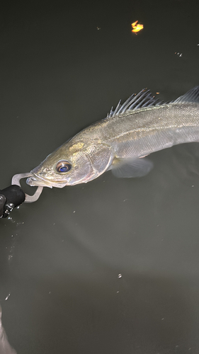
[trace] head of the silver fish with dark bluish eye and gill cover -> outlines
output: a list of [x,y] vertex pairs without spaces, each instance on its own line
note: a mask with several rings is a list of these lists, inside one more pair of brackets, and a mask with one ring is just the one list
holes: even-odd
[[111,147],[106,144],[72,139],[33,169],[33,176],[26,183],[50,188],[87,183],[109,168],[112,155]]

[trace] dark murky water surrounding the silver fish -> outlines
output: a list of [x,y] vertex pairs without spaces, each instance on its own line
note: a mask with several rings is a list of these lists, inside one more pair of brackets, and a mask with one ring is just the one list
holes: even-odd
[[[15,1],[0,18],[1,189],[120,98],[199,84],[197,1]],[[152,160],[144,178],[44,188],[1,219],[18,354],[199,353],[198,144]]]

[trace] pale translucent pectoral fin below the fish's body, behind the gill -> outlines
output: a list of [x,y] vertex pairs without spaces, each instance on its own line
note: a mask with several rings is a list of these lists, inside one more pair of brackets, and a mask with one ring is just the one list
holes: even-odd
[[118,159],[113,160],[110,169],[113,175],[118,178],[133,178],[146,176],[153,168],[152,161],[146,158],[139,159]]

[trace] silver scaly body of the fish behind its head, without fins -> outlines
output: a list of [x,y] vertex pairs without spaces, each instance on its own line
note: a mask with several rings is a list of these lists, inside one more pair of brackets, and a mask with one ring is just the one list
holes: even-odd
[[100,121],[76,135],[108,144],[118,158],[135,158],[199,140],[199,103],[157,105]]

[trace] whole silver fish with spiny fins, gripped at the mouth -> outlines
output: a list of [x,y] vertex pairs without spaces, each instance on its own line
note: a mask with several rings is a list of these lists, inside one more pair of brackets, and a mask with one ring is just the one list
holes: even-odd
[[145,156],[198,141],[199,86],[169,103],[142,89],[48,155],[26,183],[63,188],[88,183],[108,170],[118,178],[142,177],[153,168]]

